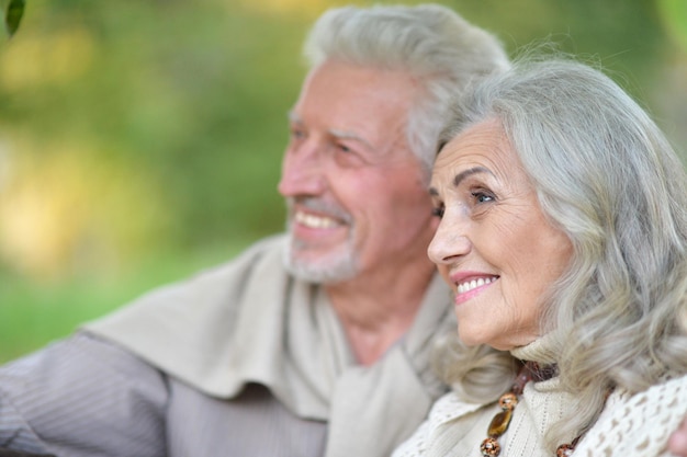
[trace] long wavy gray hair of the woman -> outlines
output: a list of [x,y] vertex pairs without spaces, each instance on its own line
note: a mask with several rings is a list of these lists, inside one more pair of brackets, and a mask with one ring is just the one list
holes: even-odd
[[[494,118],[574,247],[542,321],[542,333],[555,329],[562,386],[578,399],[547,433],[555,449],[594,424],[609,389],[638,392],[687,373],[687,176],[650,116],[587,65],[517,61],[455,103],[440,145]],[[472,367],[483,382],[482,357],[499,359],[496,373],[513,365],[494,350],[450,354],[441,366],[463,391]],[[491,386],[483,398],[503,380]]]

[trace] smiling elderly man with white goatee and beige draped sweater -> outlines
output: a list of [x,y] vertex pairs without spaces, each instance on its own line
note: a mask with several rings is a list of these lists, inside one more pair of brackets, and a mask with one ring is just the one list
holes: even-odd
[[508,66],[439,5],[314,25],[289,114],[288,232],[0,369],[0,446],[59,456],[382,456],[444,391],[426,249],[450,95]]

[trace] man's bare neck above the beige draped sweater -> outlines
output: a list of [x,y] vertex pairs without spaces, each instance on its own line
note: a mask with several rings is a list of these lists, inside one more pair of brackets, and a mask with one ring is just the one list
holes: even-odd
[[413,324],[435,273],[429,262],[393,275],[360,275],[359,278],[326,286],[351,350],[362,365],[372,365]]

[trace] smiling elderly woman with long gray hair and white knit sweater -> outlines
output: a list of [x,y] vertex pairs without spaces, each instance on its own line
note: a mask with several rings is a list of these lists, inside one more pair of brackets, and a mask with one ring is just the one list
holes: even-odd
[[459,105],[428,251],[455,294],[454,389],[394,456],[668,455],[687,412],[678,158],[582,64],[516,64]]

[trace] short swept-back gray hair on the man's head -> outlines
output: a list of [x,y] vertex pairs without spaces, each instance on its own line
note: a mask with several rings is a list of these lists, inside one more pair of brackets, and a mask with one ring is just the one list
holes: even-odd
[[452,95],[475,77],[509,65],[495,36],[438,4],[328,10],[313,25],[303,53],[312,68],[339,60],[417,78],[425,91],[408,115],[406,135],[428,180]]

